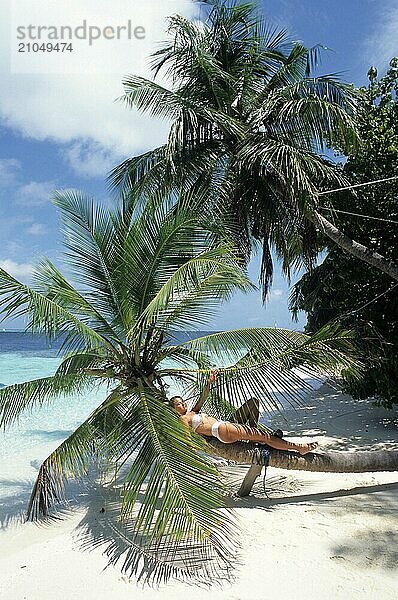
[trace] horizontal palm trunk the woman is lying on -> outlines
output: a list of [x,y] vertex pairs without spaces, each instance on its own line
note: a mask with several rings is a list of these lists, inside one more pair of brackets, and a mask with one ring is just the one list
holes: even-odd
[[[226,460],[247,465],[261,465],[258,446],[252,442],[223,444],[207,438],[212,452]],[[398,450],[363,450],[359,452],[310,452],[300,456],[295,452],[271,449],[271,467],[321,473],[367,473],[398,471]]]

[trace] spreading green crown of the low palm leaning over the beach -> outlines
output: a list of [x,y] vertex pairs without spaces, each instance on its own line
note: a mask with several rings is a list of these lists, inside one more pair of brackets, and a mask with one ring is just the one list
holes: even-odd
[[122,481],[131,569],[208,577],[232,562],[236,529],[209,446],[188,435],[166,402],[167,386],[199,394],[217,364],[219,383],[205,406],[214,415],[225,418],[254,392],[264,408],[280,408],[281,396],[300,401],[297,366],[330,373],[355,365],[350,334],[239,329],[182,341],[182,331],[206,327],[234,291],[252,288],[211,214],[191,198],[148,203],[130,221],[123,207],[110,210],[74,191],[57,193],[55,203],[75,284],[47,259],[30,286],[1,269],[0,308],[6,318],[25,315],[33,332],[60,337],[62,361],[51,377],[0,390],[0,427],[66,395],[84,402],[99,383],[107,392],[41,465],[29,518],[50,514],[65,482],[96,466]]

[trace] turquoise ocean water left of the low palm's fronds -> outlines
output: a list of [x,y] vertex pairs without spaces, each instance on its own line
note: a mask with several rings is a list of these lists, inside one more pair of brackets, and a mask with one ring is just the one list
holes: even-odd
[[[0,332],[0,385],[53,375],[59,345],[23,332]],[[0,431],[0,527],[26,508],[41,462],[99,404],[105,390],[54,400]]]

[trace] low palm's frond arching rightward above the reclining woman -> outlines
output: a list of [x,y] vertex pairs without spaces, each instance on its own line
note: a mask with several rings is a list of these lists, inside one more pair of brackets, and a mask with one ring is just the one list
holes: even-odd
[[[264,410],[281,411],[285,404],[300,405],[308,395],[312,387],[306,377],[324,381],[339,376],[343,369],[360,370],[353,333],[336,325],[314,337],[281,329],[241,329],[203,336],[182,346],[193,359],[197,352],[205,353],[218,365],[216,407],[226,401],[237,408],[244,400],[257,397]],[[205,385],[208,372],[201,370],[197,390]]]

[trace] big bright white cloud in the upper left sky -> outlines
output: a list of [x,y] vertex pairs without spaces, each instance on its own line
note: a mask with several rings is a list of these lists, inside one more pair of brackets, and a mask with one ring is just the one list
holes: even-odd
[[[18,3],[24,5],[31,1],[18,0]],[[33,2],[36,8],[42,4]],[[151,76],[148,55],[166,37],[166,17],[175,13],[191,17],[197,11],[197,5],[192,0],[146,0],[135,2],[132,10],[131,0],[114,0],[112,3],[109,0],[97,0],[80,2],[76,13],[75,1],[52,2],[53,7],[60,5],[62,13],[66,15],[66,23],[77,23],[83,18],[93,23],[101,22],[101,19],[110,18],[112,14],[112,23],[124,23],[127,17],[131,17],[135,23],[148,23],[150,35],[142,47],[136,42],[126,51],[126,47],[120,45],[118,64],[109,64],[110,46],[102,43],[96,51],[97,62],[90,69],[86,61],[85,70],[80,74],[11,73],[8,41],[10,22],[7,18],[7,2],[2,2],[0,118],[26,137],[51,139],[65,144],[67,160],[79,174],[98,174],[103,169],[101,175],[105,175],[109,166],[118,162],[120,157],[143,152],[166,139],[167,123],[154,123],[152,118],[127,110],[115,99],[123,93],[122,74]],[[11,40],[11,43],[15,41]],[[36,56],[36,59],[40,57]],[[53,62],[56,59],[56,56],[52,57]],[[109,73],[95,73],[98,61],[109,65]],[[94,150],[94,156],[90,156],[90,149]],[[99,160],[97,166],[95,160]]]

